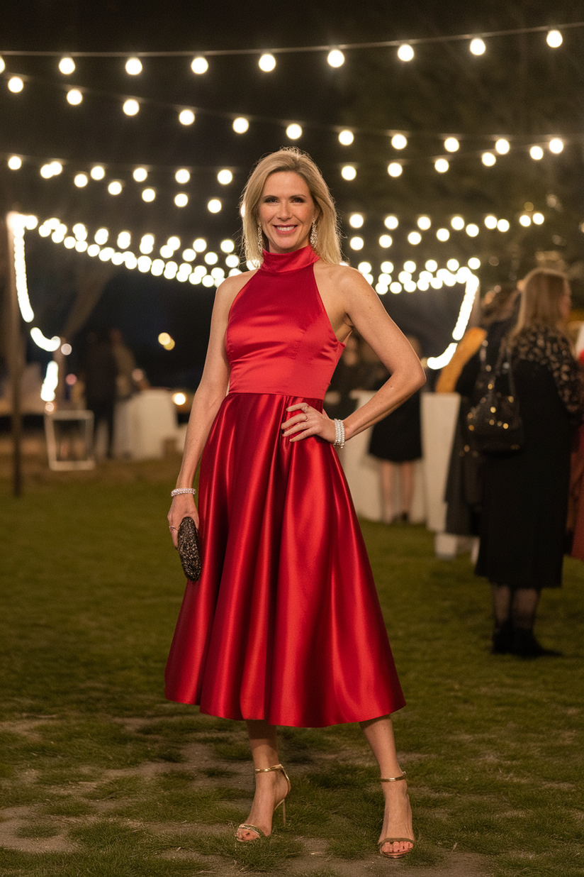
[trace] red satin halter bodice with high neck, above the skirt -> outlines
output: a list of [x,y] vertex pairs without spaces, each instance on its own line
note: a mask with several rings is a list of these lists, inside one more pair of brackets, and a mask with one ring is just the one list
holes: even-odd
[[314,280],[312,247],[266,253],[229,311],[225,347],[231,393],[322,399],[344,345]]

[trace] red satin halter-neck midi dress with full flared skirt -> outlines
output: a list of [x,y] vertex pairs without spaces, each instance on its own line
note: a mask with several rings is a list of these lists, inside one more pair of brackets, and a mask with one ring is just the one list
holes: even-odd
[[322,727],[385,716],[404,695],[337,453],[291,443],[286,408],[322,400],[343,345],[310,246],[264,253],[225,337],[229,394],[201,459],[202,574],[187,581],[169,700]]

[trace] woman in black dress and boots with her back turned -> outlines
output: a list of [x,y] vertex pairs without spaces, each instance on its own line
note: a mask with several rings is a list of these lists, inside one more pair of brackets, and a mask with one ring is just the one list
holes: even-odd
[[493,653],[558,654],[539,645],[533,624],[541,589],[561,585],[570,449],[582,418],[580,375],[565,332],[570,303],[564,275],[531,271],[508,341],[525,446],[485,462],[476,574],[491,583]]

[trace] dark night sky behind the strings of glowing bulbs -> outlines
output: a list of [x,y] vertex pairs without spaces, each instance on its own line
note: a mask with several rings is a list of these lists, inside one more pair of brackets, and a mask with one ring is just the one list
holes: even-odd
[[[220,49],[269,50],[278,47],[336,46],[374,40],[437,38],[538,25],[554,26],[580,20],[580,3],[500,4],[392,2],[320,2],[318,4],[230,4],[198,2],[110,2],[37,0],[3,11],[0,54],[6,64],[0,82],[0,197],[4,210],[35,213],[41,220],[59,217],[70,229],[81,222],[89,237],[107,227],[110,241],[118,232],[156,237],[157,250],[178,235],[180,250],[202,237],[208,249],[221,253],[220,241],[237,241],[238,199],[254,162],[280,146],[297,145],[317,161],[341,213],[344,252],[353,265],[372,265],[377,278],[383,260],[396,273],[404,260],[418,266],[448,258],[467,264],[481,260],[482,289],[515,280],[536,264],[537,253],[555,253],[574,277],[580,295],[582,274],[580,222],[582,209],[582,61],[584,28],[564,33],[559,49],[545,44],[545,32],[487,39],[481,58],[468,52],[468,41],[433,42],[414,46],[415,58],[398,61],[395,48],[352,49],[341,68],[327,65],[327,51],[277,54],[277,66],[263,73],[257,54],[209,56],[208,72],[194,75],[190,62],[198,52]],[[582,16],[584,18],[584,16]],[[10,56],[11,49],[29,51],[123,52],[188,51],[186,57],[144,58],[141,75],[130,76],[123,58],[79,58],[72,75],[61,75],[59,58]],[[10,75],[23,75],[22,92],[6,87]],[[67,89],[87,89],[79,106],[67,103]],[[142,99],[134,117],[123,114],[128,96]],[[193,125],[177,120],[181,107],[193,107]],[[236,116],[250,120],[250,129],[236,134]],[[299,122],[303,136],[286,137],[285,125]],[[354,130],[351,146],[341,146],[338,132]],[[388,132],[403,131],[408,145],[398,151]],[[443,139],[455,135],[459,153],[448,155],[450,169],[438,174],[433,161],[445,156]],[[510,140],[509,155],[496,156],[485,168],[481,154],[494,152],[494,136]],[[551,136],[566,140],[563,152],[546,147]],[[543,143],[545,157],[531,160],[531,144]],[[11,171],[6,160],[23,156],[23,167]],[[63,172],[41,179],[40,166],[60,160]],[[404,163],[393,179],[388,161]],[[77,173],[100,163],[103,181],[84,189],[74,186]],[[354,181],[341,177],[352,164]],[[134,168],[148,169],[148,180],[132,179]],[[188,168],[186,185],[174,179],[177,168]],[[233,182],[222,186],[217,172],[229,168]],[[123,191],[111,196],[108,182],[120,180]],[[144,203],[145,186],[156,190]],[[174,196],[185,192],[185,208]],[[222,201],[217,214],[208,211],[210,198]],[[541,226],[518,225],[531,211],[545,214]],[[360,212],[362,229],[355,232],[348,217]],[[387,233],[383,218],[395,213],[400,225],[391,232],[393,244],[382,250],[377,241]],[[507,235],[488,232],[484,217],[507,217]],[[434,234],[454,214],[481,228],[476,239],[452,233],[439,245]],[[419,246],[407,241],[420,215],[432,218],[431,232]],[[362,235],[362,251],[348,239]],[[95,260],[67,251],[51,239],[29,232],[26,240],[32,305],[46,336],[62,333],[67,324],[80,276]],[[116,246],[115,243],[112,246]],[[237,251],[238,252],[238,251]],[[158,254],[152,253],[152,258]],[[201,256],[196,263],[201,262]],[[220,261],[219,264],[222,264]],[[160,384],[193,386],[200,374],[213,303],[213,289],[154,278],[110,264],[105,288],[95,310],[81,326],[81,348],[91,327],[117,325],[137,353],[141,365]],[[417,334],[426,355],[436,355],[451,339],[463,289],[429,289],[391,293],[383,303],[406,332]],[[176,340],[172,353],[157,343],[158,332]],[[29,355],[37,355],[30,346]]]

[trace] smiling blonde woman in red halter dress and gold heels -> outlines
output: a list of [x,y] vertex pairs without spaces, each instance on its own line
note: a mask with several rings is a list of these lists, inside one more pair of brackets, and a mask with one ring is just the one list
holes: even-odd
[[[341,266],[334,203],[306,154],[261,160],[242,207],[258,268],[217,289],[168,514],[175,545],[183,517],[199,526],[203,572],[186,584],[166,695],[247,722],[256,795],[242,843],[270,835],[290,792],[277,725],[361,722],[386,799],[379,850],[398,858],[413,847],[390,718],[404,699],[334,446],[397,408],[424,374],[369,283]],[[322,400],[354,327],[391,377],[333,421]]]

